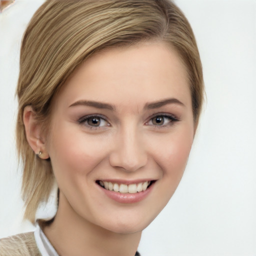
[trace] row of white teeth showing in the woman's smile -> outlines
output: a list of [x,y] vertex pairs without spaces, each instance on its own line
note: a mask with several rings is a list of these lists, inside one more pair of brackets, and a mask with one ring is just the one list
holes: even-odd
[[115,192],[120,193],[136,193],[145,191],[148,185],[150,184],[150,181],[140,182],[138,184],[117,184],[107,181],[99,180],[99,184],[104,187],[107,190],[114,190]]

